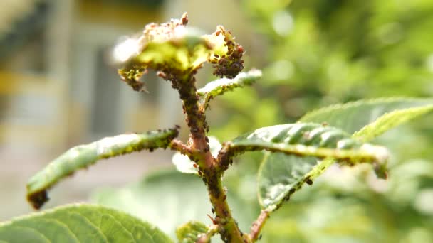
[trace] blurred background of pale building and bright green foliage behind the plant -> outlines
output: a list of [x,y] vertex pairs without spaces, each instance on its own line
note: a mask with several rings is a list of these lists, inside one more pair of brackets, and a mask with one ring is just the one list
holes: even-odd
[[[71,146],[174,124],[184,129],[169,83],[150,73],[150,93],[133,92],[110,52],[122,36],[185,11],[189,25],[207,33],[219,24],[230,29],[246,50],[246,70],[264,71],[254,87],[211,104],[211,134],[221,141],[337,102],[433,95],[430,0],[2,0],[0,9],[0,220],[31,212],[26,181]],[[215,79],[211,73],[199,73],[200,86]],[[375,141],[392,151],[389,180],[375,179],[368,166],[332,168],[271,217],[264,241],[433,242],[432,118]],[[135,153],[98,163],[56,186],[47,207],[138,181],[170,167],[171,156]],[[254,217],[260,161],[259,153],[242,156],[226,175]]]

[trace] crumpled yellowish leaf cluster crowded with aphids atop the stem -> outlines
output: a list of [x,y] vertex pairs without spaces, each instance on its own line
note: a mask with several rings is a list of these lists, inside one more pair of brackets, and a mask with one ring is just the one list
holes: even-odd
[[188,15],[167,23],[149,23],[140,36],[118,44],[113,57],[123,68],[119,75],[134,90],[143,86],[140,78],[147,69],[156,70],[165,80],[179,82],[193,74],[205,62],[214,64],[215,75],[233,78],[244,68],[244,48],[234,41],[230,31],[218,26],[210,35],[187,28]]

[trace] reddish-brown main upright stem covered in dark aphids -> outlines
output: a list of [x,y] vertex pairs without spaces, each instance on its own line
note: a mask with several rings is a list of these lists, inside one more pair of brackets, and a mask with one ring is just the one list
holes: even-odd
[[[184,113],[187,114],[187,125],[190,131],[189,148],[192,160],[199,165],[199,175],[207,185],[209,199],[216,214],[215,225],[220,228],[221,239],[224,242],[244,242],[242,233],[231,215],[226,202],[226,192],[222,186],[222,171],[216,159],[209,151],[206,136],[208,130],[204,109],[199,109],[199,95],[195,87],[194,74],[185,75],[181,80],[172,80],[173,87],[179,91],[183,102]],[[172,148],[182,150],[182,144],[172,143]],[[184,149],[184,151],[187,151]],[[182,153],[182,151],[181,151]]]

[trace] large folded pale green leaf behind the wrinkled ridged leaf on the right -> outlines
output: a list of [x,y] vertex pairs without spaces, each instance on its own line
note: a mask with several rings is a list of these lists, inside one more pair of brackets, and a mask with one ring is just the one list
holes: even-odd
[[[355,132],[352,136],[354,139],[367,142],[432,109],[433,99],[371,99],[318,109],[306,114],[300,122],[324,122],[350,133]],[[262,207],[271,210],[280,207],[284,199],[290,198],[307,181],[312,183],[334,162],[328,158],[315,165],[313,158],[309,157],[268,154],[259,170],[259,200]],[[377,162],[374,164],[376,173],[383,178],[386,163]]]

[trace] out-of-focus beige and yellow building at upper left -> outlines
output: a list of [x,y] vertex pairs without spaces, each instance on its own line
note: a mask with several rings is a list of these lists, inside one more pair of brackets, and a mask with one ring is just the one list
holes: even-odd
[[63,149],[158,127],[164,115],[157,97],[164,82],[150,82],[156,77],[149,75],[151,94],[132,92],[110,64],[110,51],[121,36],[162,21],[163,0],[4,0],[0,5],[1,144]]

